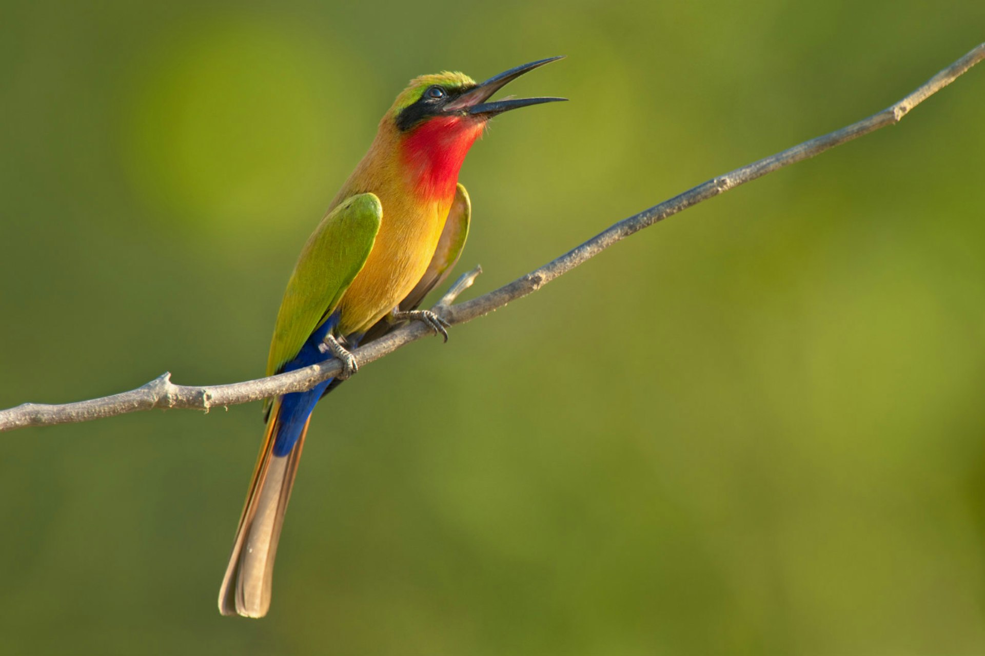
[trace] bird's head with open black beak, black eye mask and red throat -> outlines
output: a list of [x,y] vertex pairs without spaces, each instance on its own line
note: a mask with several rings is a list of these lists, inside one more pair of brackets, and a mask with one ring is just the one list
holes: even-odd
[[404,161],[419,191],[427,196],[454,193],[466,153],[493,116],[510,109],[565,100],[536,97],[488,101],[493,93],[524,73],[560,58],[517,66],[480,84],[463,73],[449,72],[412,80],[397,96],[383,123],[396,131]]

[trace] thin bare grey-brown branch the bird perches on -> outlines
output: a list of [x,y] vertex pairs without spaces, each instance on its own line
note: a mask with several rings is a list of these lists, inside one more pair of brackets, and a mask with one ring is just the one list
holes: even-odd
[[[499,287],[488,294],[452,305],[458,295],[472,285],[481,268],[466,273],[435,306],[437,312],[450,325],[464,324],[477,317],[504,307],[510,301],[531,294],[559,275],[595,257],[629,235],[653,225],[668,216],[702,201],[723,194],[734,187],[745,184],[758,177],[797,163],[808,157],[813,157],[827,149],[844,144],[871,132],[898,123],[913,107],[925,99],[950,85],[958,76],[972,66],[985,59],[985,43],[980,44],[966,55],[955,61],[925,84],[893,105],[886,107],[878,114],[853,123],[847,127],[826,134],[809,142],[804,142],[790,149],[777,152],[737,168],[734,171],[712,178],[693,189],[676,196],[660,205],[630,216],[614,224],[604,232],[589,239],[577,248],[568,251],[547,265],[538,268],[509,284]],[[432,332],[420,323],[414,323],[398,328],[379,339],[357,349],[354,354],[361,364],[378,360],[396,349],[416,341]],[[0,431],[10,431],[26,426],[48,426],[52,424],[76,423],[92,421],[102,417],[151,410],[153,408],[196,408],[208,411],[216,406],[248,403],[269,396],[276,396],[291,391],[301,391],[313,388],[327,378],[339,374],[342,367],[338,360],[327,360],[323,363],[305,367],[287,374],[279,374],[269,378],[219,385],[211,387],[186,387],[170,382],[170,374],[151,381],[147,385],[124,391],[111,396],[94,398],[88,401],[65,403],[63,405],[46,405],[25,403],[15,408],[0,411]]]

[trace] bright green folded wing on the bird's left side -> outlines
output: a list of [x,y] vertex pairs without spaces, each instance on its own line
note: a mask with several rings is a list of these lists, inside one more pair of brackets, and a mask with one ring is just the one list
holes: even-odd
[[273,376],[300,350],[339,305],[365,264],[383,208],[373,194],[353,196],[332,209],[308,237],[277,313],[267,359]]

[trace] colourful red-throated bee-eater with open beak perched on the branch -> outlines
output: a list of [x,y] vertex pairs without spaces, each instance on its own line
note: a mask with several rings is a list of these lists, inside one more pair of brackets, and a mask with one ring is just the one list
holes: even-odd
[[493,116],[566,99],[490,100],[561,58],[480,84],[447,71],[412,80],[304,244],[277,314],[267,376],[332,357],[343,369],[265,404],[266,431],[219,592],[223,615],[262,618],[270,609],[274,559],[311,413],[358,371],[351,350],[408,321],[424,322],[447,341],[447,324],[417,308],[458,262],[468,236],[472,208],[459,170]]

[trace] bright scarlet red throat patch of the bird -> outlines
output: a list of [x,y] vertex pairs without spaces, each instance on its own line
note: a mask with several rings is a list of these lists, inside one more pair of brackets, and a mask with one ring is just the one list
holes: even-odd
[[455,195],[458,171],[465,155],[483,134],[486,122],[460,116],[437,116],[408,135],[403,158],[411,184],[424,200],[446,200]]

